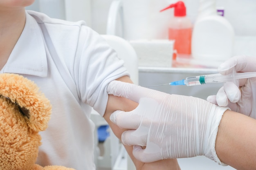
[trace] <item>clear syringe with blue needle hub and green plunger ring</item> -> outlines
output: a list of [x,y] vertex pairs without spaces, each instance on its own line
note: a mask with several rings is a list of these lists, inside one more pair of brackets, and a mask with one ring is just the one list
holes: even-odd
[[[246,73],[233,73],[229,75],[221,75],[221,74],[209,74],[209,75],[198,75],[193,77],[186,77],[186,79],[182,79],[179,81],[171,82],[168,84],[160,84],[155,86],[162,86],[162,85],[186,85],[186,86],[195,86],[201,84],[209,84],[209,83],[221,83],[221,82],[231,82],[235,79],[243,79],[243,78],[250,78],[256,77],[256,72],[246,72]],[[152,86],[148,86],[152,87]]]

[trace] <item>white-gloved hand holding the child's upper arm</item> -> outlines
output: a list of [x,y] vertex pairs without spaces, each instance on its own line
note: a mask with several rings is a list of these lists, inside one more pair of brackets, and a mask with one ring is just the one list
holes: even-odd
[[133,155],[138,160],[152,162],[205,155],[225,165],[216,155],[215,141],[218,125],[228,108],[120,81],[110,82],[107,91],[139,104],[135,110],[117,110],[110,116],[120,128],[131,129],[121,139],[123,144],[134,146]]

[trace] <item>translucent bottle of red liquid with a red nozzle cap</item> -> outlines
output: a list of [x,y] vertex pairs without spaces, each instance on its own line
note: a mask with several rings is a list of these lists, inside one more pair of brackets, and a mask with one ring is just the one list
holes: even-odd
[[[192,23],[186,17],[184,2],[178,1],[160,12],[170,8],[174,8],[174,17],[170,20],[168,38],[169,40],[175,40],[173,49],[177,51],[179,57],[188,58],[191,56]],[[173,60],[175,60],[175,57],[173,57]]]

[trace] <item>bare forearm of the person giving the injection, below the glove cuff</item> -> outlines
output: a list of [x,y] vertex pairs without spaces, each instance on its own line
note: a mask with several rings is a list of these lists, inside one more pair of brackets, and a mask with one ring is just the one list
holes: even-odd
[[220,121],[216,153],[238,170],[256,170],[256,119],[227,110]]

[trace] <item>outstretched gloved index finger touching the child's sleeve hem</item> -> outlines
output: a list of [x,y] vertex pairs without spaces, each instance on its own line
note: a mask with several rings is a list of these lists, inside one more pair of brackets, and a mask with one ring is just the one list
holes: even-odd
[[[149,88],[145,88],[145,87],[137,86],[135,84],[130,84],[130,83],[121,82],[117,80],[114,80],[109,83],[107,92],[110,95],[125,97],[137,103],[139,103],[139,99],[141,97],[151,98],[152,96],[155,96],[155,99],[157,99],[156,94],[162,93]],[[162,95],[158,95],[158,96],[162,98],[164,97],[164,95],[166,94],[162,93]]]

